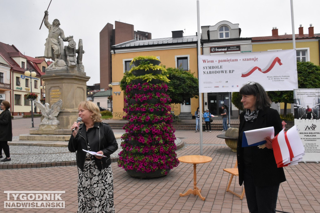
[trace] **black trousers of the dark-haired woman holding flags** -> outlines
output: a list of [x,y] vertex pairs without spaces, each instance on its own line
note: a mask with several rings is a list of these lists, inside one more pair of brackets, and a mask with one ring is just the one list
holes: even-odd
[[244,169],[244,189],[250,213],[276,212],[280,183],[274,186],[255,186],[250,170]]

